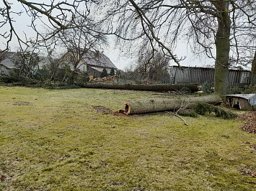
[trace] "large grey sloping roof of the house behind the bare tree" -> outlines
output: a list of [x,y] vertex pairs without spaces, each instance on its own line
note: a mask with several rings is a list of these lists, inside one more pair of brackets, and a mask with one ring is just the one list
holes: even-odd
[[87,63],[87,65],[118,69],[118,67],[116,67],[106,55],[99,51],[94,52],[92,50],[88,50],[83,55],[82,59]]

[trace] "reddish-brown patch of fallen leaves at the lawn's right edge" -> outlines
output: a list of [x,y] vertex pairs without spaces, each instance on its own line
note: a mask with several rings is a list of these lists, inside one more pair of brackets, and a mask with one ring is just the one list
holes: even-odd
[[246,124],[241,127],[244,131],[251,134],[256,134],[256,111],[246,113],[239,117],[241,121],[245,121]]

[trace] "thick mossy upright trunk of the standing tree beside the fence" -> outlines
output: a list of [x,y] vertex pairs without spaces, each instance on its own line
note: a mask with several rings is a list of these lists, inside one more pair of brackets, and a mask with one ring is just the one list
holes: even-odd
[[231,20],[229,18],[229,3],[227,1],[219,1],[214,3],[218,14],[218,31],[216,33],[216,62],[214,87],[216,94],[224,95],[228,85],[229,75],[229,50],[230,50],[230,27]]

